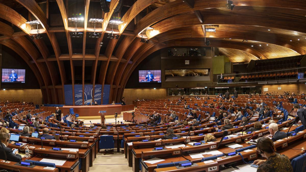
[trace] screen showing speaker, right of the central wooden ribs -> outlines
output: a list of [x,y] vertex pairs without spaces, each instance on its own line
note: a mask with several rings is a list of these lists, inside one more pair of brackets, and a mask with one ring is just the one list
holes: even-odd
[[139,82],[159,83],[161,81],[161,70],[139,70]]

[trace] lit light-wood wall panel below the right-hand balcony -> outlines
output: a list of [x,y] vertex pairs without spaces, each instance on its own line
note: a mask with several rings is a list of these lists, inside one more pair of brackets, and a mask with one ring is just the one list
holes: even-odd
[[[278,90],[278,87],[281,87],[282,89],[281,90]],[[279,94],[282,94],[284,92],[289,92],[290,94],[292,92],[294,92],[295,94],[298,94],[298,84],[274,84],[274,85],[263,85],[261,87],[261,91],[263,91],[263,88],[268,88],[268,93],[270,92],[271,94],[273,92],[278,93]]]

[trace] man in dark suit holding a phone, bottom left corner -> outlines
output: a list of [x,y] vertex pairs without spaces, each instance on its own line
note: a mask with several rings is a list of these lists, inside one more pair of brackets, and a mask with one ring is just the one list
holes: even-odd
[[[0,151],[1,152],[0,159],[5,159],[6,158],[8,161],[13,161],[13,162],[18,162],[19,163],[22,159],[21,159],[21,155],[18,154],[19,153],[18,150],[13,153],[13,150],[15,148],[11,149],[11,148],[7,147],[9,145],[9,134],[4,133],[4,132],[0,133],[0,140],[1,140],[0,144],[2,144],[0,146],[0,149],[2,149]],[[5,157],[3,152],[5,152],[6,157]]]

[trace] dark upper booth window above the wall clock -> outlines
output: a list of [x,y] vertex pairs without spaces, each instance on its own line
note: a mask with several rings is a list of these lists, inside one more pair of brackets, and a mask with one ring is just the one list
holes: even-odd
[[206,56],[206,50],[201,48],[170,48],[168,56]]

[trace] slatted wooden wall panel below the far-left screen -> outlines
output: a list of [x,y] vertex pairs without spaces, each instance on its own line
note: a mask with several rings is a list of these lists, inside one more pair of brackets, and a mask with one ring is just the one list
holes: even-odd
[[13,101],[24,101],[31,102],[34,104],[39,104],[39,106],[43,103],[43,95],[40,89],[6,89],[0,90],[0,101],[9,100],[9,102]]

